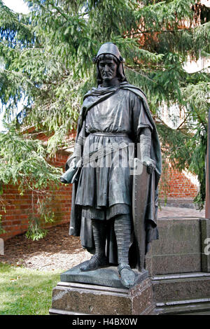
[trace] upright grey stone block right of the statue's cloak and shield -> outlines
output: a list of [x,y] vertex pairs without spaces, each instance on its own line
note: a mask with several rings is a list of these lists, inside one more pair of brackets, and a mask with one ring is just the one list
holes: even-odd
[[149,275],[202,271],[200,218],[158,220],[160,239],[146,255]]

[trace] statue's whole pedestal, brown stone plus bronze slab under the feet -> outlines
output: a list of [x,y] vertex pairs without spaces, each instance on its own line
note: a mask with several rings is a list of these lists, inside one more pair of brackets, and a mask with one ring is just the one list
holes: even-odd
[[[50,314],[137,315],[153,314],[153,288],[148,272],[139,275],[127,289],[120,283],[117,267],[80,272],[77,267],[61,274],[52,290]],[[96,275],[97,274],[97,275]],[[69,282],[71,281],[71,282]]]

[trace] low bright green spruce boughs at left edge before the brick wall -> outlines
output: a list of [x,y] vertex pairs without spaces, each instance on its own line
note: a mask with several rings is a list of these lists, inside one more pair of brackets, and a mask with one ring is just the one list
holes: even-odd
[[51,183],[58,184],[62,170],[46,161],[48,151],[41,141],[18,133],[14,125],[10,125],[6,134],[0,133],[0,145],[1,186],[12,182],[23,194],[25,189],[41,190]]

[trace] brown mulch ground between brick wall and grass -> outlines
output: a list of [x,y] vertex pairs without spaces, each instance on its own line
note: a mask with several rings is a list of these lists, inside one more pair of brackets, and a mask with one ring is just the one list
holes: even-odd
[[48,229],[48,235],[39,241],[31,241],[25,235],[6,240],[0,262],[30,269],[66,270],[90,257],[81,248],[80,239],[69,236],[67,223]]

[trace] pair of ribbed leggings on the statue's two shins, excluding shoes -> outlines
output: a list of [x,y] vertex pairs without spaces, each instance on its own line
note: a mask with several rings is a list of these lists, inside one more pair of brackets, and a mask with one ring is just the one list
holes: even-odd
[[[106,244],[106,222],[92,220],[95,253],[99,256],[105,255]],[[118,245],[118,264],[128,264],[128,251],[131,236],[130,215],[118,215],[114,219],[114,230]]]

